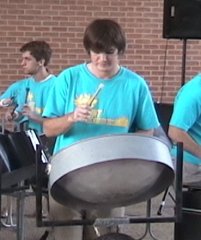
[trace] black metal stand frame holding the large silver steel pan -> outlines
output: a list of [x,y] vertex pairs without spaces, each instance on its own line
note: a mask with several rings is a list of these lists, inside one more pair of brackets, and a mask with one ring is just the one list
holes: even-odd
[[[64,221],[51,221],[42,219],[42,166],[41,159],[41,146],[36,147],[36,224],[38,227],[61,227],[61,226],[108,226],[120,224],[134,224],[145,223],[146,230],[144,235],[137,239],[143,239],[149,233],[153,240],[157,240],[151,232],[151,223],[174,223],[174,240],[182,240],[182,167],[183,167],[183,144],[177,144],[177,161],[176,161],[176,174],[175,174],[175,211],[173,216],[151,216],[151,200],[147,201],[147,214],[146,217],[124,217],[116,219],[73,219]],[[102,225],[103,224],[103,225]]]

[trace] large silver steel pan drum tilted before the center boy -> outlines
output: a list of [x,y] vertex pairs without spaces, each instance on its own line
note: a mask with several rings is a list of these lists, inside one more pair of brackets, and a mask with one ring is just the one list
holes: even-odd
[[80,141],[55,154],[51,165],[52,197],[79,209],[139,203],[161,193],[174,179],[167,145],[134,134]]

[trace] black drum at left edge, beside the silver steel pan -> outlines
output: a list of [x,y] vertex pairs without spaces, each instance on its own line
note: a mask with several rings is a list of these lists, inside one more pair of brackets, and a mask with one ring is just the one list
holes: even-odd
[[[40,139],[33,130],[0,134],[2,187],[9,187],[35,176],[36,145]],[[42,151],[42,159],[47,157]]]

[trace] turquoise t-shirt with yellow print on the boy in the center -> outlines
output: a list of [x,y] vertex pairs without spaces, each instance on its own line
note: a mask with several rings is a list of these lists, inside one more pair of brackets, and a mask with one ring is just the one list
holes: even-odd
[[54,153],[82,139],[159,126],[146,82],[124,67],[108,80],[95,77],[86,64],[64,70],[49,94],[43,116],[52,118],[73,112],[79,104],[88,103],[100,84],[104,87],[93,101],[90,122],[75,123],[59,135]]

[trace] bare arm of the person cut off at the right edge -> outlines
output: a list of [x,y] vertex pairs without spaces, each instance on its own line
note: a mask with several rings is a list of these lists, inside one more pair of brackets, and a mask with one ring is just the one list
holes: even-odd
[[184,150],[201,158],[201,146],[187,132],[180,128],[169,126],[168,136],[175,143],[182,142]]

